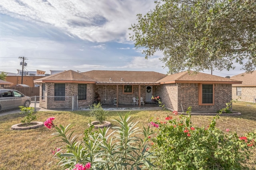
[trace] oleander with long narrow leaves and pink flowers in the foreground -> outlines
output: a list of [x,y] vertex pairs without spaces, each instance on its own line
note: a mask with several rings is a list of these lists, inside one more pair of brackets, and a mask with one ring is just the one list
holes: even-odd
[[[52,119],[53,120],[53,119]],[[56,143],[64,142],[64,146],[54,150],[54,157],[58,158],[58,165],[64,170],[148,170],[153,166],[152,152],[148,141],[152,131],[150,127],[138,129],[136,123],[130,120],[129,113],[125,117],[119,115],[114,119],[120,126],[112,127],[114,131],[108,134],[109,128],[85,131],[84,139],[76,141],[70,129],[74,125],[57,127],[48,118],[49,129],[55,128]],[[142,134],[144,137],[137,137]]]

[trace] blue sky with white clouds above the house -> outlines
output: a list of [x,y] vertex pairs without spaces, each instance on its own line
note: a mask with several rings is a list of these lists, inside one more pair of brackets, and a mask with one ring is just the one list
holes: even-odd
[[[146,60],[130,41],[136,14],[154,0],[0,0],[0,71],[129,70],[166,74],[160,52]],[[218,71],[218,76],[244,72]],[[210,70],[205,73],[211,74]]]

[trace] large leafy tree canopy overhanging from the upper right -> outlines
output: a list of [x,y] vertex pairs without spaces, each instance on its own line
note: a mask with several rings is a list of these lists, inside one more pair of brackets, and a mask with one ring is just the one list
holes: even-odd
[[130,28],[146,59],[162,51],[170,73],[256,67],[255,0],[159,0]]

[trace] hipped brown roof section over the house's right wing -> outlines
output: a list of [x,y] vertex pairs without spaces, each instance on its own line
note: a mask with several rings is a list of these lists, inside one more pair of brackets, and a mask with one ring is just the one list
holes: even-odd
[[158,80],[160,84],[169,83],[218,83],[218,84],[241,84],[239,80],[233,80],[230,78],[224,78],[220,76],[214,76],[211,74],[205,74],[202,72],[184,71],[176,74],[170,74],[161,80]]

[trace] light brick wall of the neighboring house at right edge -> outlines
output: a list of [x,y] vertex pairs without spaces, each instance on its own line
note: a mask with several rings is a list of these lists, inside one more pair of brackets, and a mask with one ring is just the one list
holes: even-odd
[[[239,98],[241,97],[241,98]],[[236,96],[236,86],[232,86],[232,99],[243,102],[256,102],[256,86],[242,86],[241,96]]]

